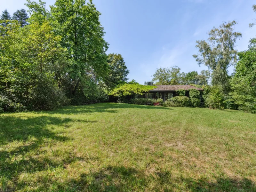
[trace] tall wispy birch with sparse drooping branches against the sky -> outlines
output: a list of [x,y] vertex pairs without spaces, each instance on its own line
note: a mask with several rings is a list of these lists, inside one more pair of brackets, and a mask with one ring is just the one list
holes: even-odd
[[196,41],[199,55],[193,55],[198,65],[204,64],[212,71],[212,84],[228,89],[228,68],[236,64],[236,39],[242,36],[234,32],[236,21],[224,22],[219,28],[213,28],[208,41]]

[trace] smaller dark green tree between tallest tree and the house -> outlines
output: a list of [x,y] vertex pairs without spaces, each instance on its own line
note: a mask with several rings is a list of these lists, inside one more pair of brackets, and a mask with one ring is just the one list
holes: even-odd
[[113,88],[117,84],[126,82],[128,80],[127,75],[129,74],[129,70],[127,70],[121,54],[108,54],[107,62],[110,71],[104,82],[108,85],[108,87]]

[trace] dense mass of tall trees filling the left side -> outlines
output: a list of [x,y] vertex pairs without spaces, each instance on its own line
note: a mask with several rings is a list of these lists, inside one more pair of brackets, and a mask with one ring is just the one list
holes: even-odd
[[0,112],[54,109],[108,100],[127,81],[120,54],[106,54],[100,12],[92,1],[27,0],[0,20]]

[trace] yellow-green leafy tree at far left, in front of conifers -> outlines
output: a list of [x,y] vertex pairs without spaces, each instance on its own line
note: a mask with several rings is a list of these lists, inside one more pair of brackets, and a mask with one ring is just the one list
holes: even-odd
[[53,66],[65,49],[60,36],[55,36],[48,22],[31,23],[20,28],[10,21],[1,32],[2,56],[0,76],[5,95],[29,109],[54,109],[68,103],[62,89],[57,87]]

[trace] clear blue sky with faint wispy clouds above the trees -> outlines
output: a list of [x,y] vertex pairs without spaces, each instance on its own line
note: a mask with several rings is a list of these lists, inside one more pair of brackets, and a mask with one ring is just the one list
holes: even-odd
[[[47,7],[55,0],[44,0]],[[24,8],[26,0],[1,0],[0,11],[11,14]],[[206,39],[207,32],[223,21],[236,20],[242,33],[236,49],[247,49],[256,35],[255,0],[93,0],[102,13],[100,21],[109,43],[108,53],[120,53],[130,74],[140,84],[150,81],[156,68],[177,65],[183,72],[206,69],[192,57],[197,53],[196,40]],[[232,68],[229,72],[232,72]]]

